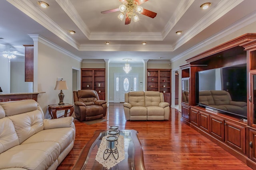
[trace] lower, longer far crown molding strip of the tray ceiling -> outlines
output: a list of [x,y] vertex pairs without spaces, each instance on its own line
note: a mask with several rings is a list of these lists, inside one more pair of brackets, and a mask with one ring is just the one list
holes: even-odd
[[79,51],[173,51],[171,45],[81,44]]

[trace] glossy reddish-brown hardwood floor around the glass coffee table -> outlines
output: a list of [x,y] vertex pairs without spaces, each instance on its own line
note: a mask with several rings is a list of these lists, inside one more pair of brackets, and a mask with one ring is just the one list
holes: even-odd
[[75,120],[74,148],[57,170],[70,170],[81,149],[97,129],[119,125],[137,130],[144,151],[146,170],[251,170],[246,164],[180,121],[178,110],[170,109],[169,121],[126,121],[123,104],[110,103],[108,121],[86,125]]

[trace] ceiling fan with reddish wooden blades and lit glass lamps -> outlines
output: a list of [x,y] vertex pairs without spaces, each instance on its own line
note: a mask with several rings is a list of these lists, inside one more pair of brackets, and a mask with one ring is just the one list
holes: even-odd
[[144,9],[141,6],[139,6],[140,4],[143,4],[148,0],[119,0],[119,1],[122,2],[122,5],[120,5],[119,8],[102,11],[101,13],[108,14],[111,12],[120,11],[121,13],[118,15],[118,18],[120,20],[123,20],[123,18],[125,17],[125,25],[130,24],[132,19],[134,22],[139,20],[138,15],[134,11],[138,12],[139,14],[148,16],[150,18],[156,17],[157,13]]

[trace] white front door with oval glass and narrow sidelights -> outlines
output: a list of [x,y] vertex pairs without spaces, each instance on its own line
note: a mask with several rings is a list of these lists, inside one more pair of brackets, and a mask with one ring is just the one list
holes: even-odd
[[138,90],[139,74],[114,73],[114,103],[124,102],[124,94]]

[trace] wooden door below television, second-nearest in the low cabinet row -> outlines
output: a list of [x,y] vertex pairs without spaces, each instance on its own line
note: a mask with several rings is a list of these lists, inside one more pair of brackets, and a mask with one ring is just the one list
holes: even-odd
[[224,141],[224,119],[210,116],[210,134],[220,141]]

